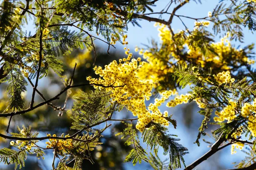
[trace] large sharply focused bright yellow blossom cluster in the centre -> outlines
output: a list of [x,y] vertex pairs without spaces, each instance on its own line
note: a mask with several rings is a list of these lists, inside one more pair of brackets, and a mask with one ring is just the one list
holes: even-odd
[[[139,65],[136,59],[131,59],[131,62],[122,60],[116,62],[114,60],[109,65],[105,65],[105,68],[95,67],[95,74],[99,74],[100,78],[95,79],[87,77],[90,83],[100,84],[108,86],[106,91],[111,92],[111,102],[118,102],[133,113],[134,116],[138,116],[137,129],[143,131],[145,125],[149,122],[157,122],[162,125],[169,125],[168,121],[164,117],[168,116],[168,112],[162,114],[158,109],[170,95],[175,94],[176,91],[165,91],[161,95],[161,99],[155,99],[154,104],[150,104],[148,109],[145,105],[145,100],[149,100],[151,91],[154,84],[159,84],[158,81],[140,79],[138,74],[144,67],[144,62]],[[97,85],[94,85],[98,88]],[[99,87],[102,88],[102,87]]]

